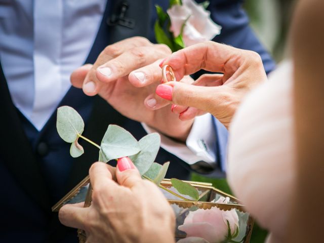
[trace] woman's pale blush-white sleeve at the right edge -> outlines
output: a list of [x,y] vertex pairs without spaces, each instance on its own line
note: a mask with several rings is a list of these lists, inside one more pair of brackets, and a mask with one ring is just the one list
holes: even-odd
[[282,64],[241,104],[229,130],[229,184],[276,243],[295,180],[292,73],[291,62]]

